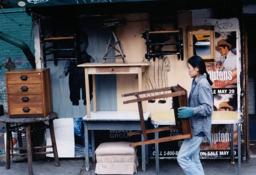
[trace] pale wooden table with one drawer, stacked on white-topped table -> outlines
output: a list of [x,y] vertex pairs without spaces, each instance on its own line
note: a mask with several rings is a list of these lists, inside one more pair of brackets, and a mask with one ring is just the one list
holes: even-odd
[[[87,117],[91,117],[90,106],[90,92],[89,92],[89,74],[92,74],[92,88],[93,88],[93,112],[97,112],[96,103],[96,74],[138,74],[138,88],[142,91],[142,72],[145,70],[145,66],[150,63],[84,63],[77,65],[77,67],[84,67],[85,73],[85,93],[87,102]],[[143,105],[143,112],[145,112],[145,103]]]

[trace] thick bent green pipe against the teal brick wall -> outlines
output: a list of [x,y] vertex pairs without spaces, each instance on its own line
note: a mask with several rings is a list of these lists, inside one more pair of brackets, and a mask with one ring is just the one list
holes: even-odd
[[35,69],[35,57],[25,42],[13,37],[13,36],[10,36],[6,33],[3,33],[1,31],[0,31],[0,39],[21,48],[21,50],[26,55],[27,60],[29,61],[30,65]]

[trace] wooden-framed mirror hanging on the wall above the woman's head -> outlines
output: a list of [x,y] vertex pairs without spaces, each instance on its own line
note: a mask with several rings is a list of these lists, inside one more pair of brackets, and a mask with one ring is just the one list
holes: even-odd
[[188,58],[199,55],[205,63],[215,62],[215,31],[213,25],[188,26]]

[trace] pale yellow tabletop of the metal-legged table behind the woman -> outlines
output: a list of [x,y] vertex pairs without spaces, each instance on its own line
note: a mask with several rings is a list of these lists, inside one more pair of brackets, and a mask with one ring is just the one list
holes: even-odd
[[[234,111],[213,111],[212,114],[212,124],[235,124],[241,121],[242,118]],[[175,125],[174,110],[153,113],[151,123],[155,125]]]

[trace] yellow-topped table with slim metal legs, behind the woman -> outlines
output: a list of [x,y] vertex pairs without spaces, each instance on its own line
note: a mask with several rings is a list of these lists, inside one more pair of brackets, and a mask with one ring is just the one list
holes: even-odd
[[[241,174],[241,130],[240,123],[242,122],[241,116],[234,111],[213,111],[212,124],[230,124],[231,125],[231,163],[234,163],[234,126],[237,125],[237,161],[238,161],[238,175]],[[151,123],[158,128],[159,125],[175,125],[174,111],[156,112],[151,117]],[[158,133],[155,133],[155,138],[158,138]],[[156,146],[156,175],[159,175],[159,148],[158,143]]]

